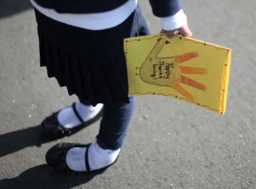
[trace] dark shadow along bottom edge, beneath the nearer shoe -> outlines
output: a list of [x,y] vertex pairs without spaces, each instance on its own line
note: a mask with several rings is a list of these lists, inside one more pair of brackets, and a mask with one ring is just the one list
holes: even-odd
[[47,189],[68,189],[75,186],[83,185],[104,170],[97,170],[93,173],[87,172],[57,172],[49,165],[38,165],[28,169],[17,178],[0,180],[0,186],[3,188],[47,188]]

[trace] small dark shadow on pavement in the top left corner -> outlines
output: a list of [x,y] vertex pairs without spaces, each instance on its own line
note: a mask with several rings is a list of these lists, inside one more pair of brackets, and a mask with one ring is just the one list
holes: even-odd
[[29,0],[1,0],[0,19],[33,8]]

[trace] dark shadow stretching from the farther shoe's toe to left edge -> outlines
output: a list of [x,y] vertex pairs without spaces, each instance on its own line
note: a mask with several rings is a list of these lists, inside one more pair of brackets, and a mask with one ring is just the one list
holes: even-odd
[[[12,154],[29,146],[41,146],[52,139],[47,139],[41,132],[40,126],[0,135],[0,157]],[[6,147],[8,146],[8,147]]]

